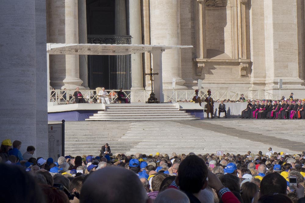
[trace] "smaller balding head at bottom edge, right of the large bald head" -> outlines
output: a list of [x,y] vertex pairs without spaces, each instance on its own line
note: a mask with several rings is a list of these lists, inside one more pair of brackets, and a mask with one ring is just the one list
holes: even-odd
[[176,189],[167,189],[158,194],[154,203],[189,203],[188,196]]

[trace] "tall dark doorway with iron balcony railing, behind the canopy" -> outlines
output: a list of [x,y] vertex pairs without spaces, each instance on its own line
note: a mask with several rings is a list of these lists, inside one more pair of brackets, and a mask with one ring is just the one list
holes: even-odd
[[[131,44],[131,36],[115,34],[115,1],[86,0],[89,44]],[[88,55],[90,89],[131,88],[131,55]]]

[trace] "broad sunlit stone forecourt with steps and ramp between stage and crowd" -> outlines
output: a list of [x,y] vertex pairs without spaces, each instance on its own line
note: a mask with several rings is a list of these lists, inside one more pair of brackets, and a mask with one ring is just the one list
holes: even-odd
[[203,121],[66,122],[66,154],[98,155],[106,142],[120,153],[263,154],[269,147],[305,151],[304,120],[210,119]]

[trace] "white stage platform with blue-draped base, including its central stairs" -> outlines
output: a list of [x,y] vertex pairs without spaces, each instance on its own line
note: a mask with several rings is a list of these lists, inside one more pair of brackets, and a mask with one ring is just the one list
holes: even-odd
[[203,118],[203,108],[198,103],[48,104],[49,121],[160,121]]

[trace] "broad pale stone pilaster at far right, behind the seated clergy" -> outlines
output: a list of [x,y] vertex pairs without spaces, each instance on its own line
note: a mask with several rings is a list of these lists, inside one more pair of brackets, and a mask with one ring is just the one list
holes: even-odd
[[[304,90],[300,77],[298,58],[298,0],[264,1],[265,53],[266,53],[266,90],[276,93],[278,79],[283,79],[283,90],[296,93]],[[285,8],[285,12],[282,12]],[[283,32],[285,30],[285,32]],[[283,94],[283,92],[281,92]],[[301,98],[297,94],[295,97]]]

